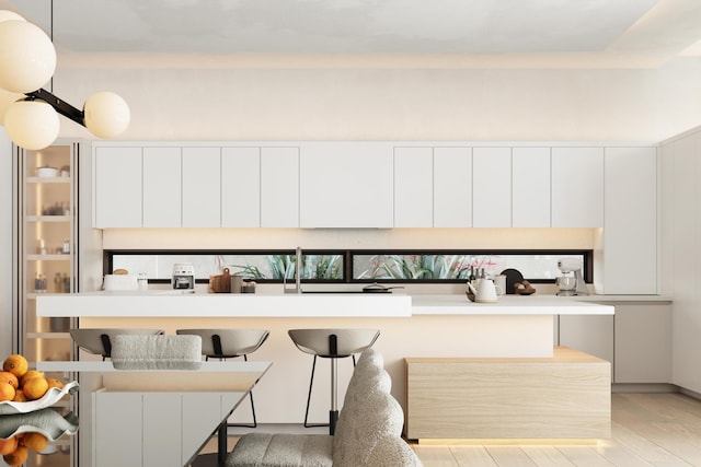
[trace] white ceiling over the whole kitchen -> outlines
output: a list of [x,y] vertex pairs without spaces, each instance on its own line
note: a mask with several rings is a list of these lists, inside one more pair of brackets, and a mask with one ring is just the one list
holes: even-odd
[[[0,0],[59,62],[654,68],[701,44],[701,0]],[[51,21],[53,20],[53,21]],[[153,54],[158,55],[158,60]],[[226,57],[227,59],[222,59]],[[238,60],[238,61],[237,61]],[[106,60],[104,61],[106,62]]]

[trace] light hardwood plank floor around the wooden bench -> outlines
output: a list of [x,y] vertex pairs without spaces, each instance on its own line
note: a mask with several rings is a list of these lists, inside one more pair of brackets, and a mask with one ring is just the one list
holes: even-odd
[[[612,436],[596,444],[412,447],[425,467],[701,466],[701,400],[679,393],[614,393],[611,412]],[[237,440],[229,439],[229,450]],[[210,446],[205,452],[216,448]]]

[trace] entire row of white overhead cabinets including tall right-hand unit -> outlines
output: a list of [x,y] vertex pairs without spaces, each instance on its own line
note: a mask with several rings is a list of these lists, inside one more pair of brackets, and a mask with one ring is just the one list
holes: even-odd
[[604,227],[597,290],[658,289],[654,145],[99,142],[93,157],[97,229]]

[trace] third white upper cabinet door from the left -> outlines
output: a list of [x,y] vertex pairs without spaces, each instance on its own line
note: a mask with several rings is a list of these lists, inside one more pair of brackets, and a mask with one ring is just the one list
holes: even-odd
[[221,226],[220,148],[183,148],[183,226]]

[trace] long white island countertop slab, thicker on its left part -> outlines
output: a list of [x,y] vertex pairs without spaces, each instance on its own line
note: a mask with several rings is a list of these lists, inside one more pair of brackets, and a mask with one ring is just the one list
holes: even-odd
[[59,317],[410,317],[412,315],[612,315],[610,304],[554,295],[506,295],[495,304],[466,295],[402,293],[230,294],[88,292],[42,294],[37,316]]

